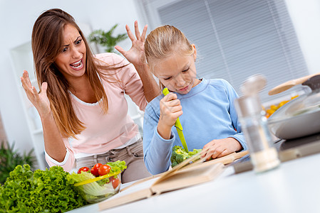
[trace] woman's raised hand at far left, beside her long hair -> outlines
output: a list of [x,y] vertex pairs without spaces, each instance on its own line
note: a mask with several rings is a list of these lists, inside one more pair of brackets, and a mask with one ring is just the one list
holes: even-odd
[[24,91],[26,92],[26,96],[33,104],[34,107],[38,110],[40,116],[46,116],[51,113],[50,102],[46,95],[46,89],[48,84],[43,82],[41,85],[41,92],[38,93],[36,88],[32,86],[29,74],[26,70],[24,70],[24,74],[20,77],[22,87],[24,87]]

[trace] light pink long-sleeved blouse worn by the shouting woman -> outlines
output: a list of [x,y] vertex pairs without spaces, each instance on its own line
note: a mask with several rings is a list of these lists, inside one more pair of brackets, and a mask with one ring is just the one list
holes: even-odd
[[[127,60],[115,53],[98,54],[96,58],[103,64],[115,67],[128,64]],[[129,95],[140,110],[145,110],[147,101],[138,72],[132,64],[119,70],[103,72],[110,74],[107,77],[108,82],[100,78],[108,97],[108,113],[102,113],[98,102],[83,102],[70,92],[76,116],[86,125],[86,129],[76,135],[77,139],[63,138],[67,150],[63,162],[54,160],[46,153],[49,166],[60,165],[64,170],[70,171],[75,158],[106,153],[110,149],[122,148],[137,140],[138,126],[128,116],[128,103],[124,93]]]

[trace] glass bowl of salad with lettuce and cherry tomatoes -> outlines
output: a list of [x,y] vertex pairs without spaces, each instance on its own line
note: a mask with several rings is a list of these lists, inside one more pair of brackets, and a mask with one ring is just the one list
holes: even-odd
[[[84,169],[77,174],[71,174],[75,180],[74,187],[89,203],[100,202],[117,194],[121,185],[120,173],[126,168],[125,162],[120,160],[105,164],[107,166],[96,165],[91,170]],[[95,167],[101,168],[99,171],[103,172],[97,175],[94,172]]]

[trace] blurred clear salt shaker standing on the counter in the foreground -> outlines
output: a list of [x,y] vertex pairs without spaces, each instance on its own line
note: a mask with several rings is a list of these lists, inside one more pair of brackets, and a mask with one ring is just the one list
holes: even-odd
[[252,75],[240,87],[242,97],[234,102],[256,173],[271,170],[280,164],[277,150],[271,145],[272,135],[259,100],[258,93],[266,82],[263,75]]

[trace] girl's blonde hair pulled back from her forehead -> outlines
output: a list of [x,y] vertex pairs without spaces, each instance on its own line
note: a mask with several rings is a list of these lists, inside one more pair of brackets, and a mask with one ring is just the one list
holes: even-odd
[[[192,55],[195,52],[189,40],[179,29],[165,25],[155,28],[145,39],[145,57],[153,71],[156,63],[173,54]],[[163,85],[159,82],[162,89]]]

